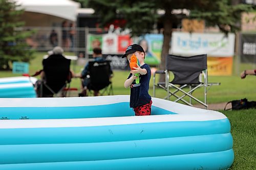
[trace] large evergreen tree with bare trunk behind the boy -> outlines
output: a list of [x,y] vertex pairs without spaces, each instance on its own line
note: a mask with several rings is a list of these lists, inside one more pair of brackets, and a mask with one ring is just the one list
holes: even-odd
[[[205,19],[208,26],[217,25],[224,33],[238,31],[240,28],[237,21],[240,20],[240,13],[251,9],[249,5],[231,5],[231,1],[228,0],[141,0],[139,2],[89,0],[88,6],[95,10],[102,26],[117,17],[124,18],[125,28],[132,30],[132,36],[149,33],[155,29],[155,23],[160,17],[157,11],[163,10],[164,14],[161,19],[164,31],[160,69],[165,68],[165,56],[170,48],[173,21],[177,18],[177,15],[173,13],[174,9],[187,9],[190,11],[189,16],[183,15],[182,17]],[[160,77],[160,81],[163,80],[164,77]]]

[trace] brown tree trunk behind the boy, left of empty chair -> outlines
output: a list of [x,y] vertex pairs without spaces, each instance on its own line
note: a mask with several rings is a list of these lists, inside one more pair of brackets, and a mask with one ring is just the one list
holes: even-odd
[[[171,15],[172,15],[172,9],[166,9],[165,10],[165,17],[164,17],[164,23],[163,23],[163,46],[162,46],[162,52],[161,52],[161,64],[160,64],[160,70],[165,69],[165,59],[166,56],[169,53],[170,48],[170,38],[172,37],[172,21],[171,21]],[[159,82],[164,82],[165,76],[163,74],[160,75]]]

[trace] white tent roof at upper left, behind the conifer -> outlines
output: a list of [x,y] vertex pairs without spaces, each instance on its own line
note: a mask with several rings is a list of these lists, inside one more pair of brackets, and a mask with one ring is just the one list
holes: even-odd
[[18,9],[53,15],[75,21],[80,4],[71,0],[14,0]]

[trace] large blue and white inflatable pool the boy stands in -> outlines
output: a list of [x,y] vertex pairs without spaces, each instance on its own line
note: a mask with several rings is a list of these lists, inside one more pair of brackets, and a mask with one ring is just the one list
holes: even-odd
[[129,95],[0,99],[0,169],[228,169],[227,117],[153,98],[134,116]]

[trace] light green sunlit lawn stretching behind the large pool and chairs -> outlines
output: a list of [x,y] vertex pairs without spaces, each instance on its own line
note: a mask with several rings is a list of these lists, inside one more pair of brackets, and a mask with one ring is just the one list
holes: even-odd
[[[37,52],[35,53],[36,58],[30,63],[30,74],[34,74],[36,70],[42,68],[42,56],[46,53]],[[74,55],[72,53],[66,53],[66,55]],[[78,66],[74,61],[72,61],[72,69],[79,73],[83,66]],[[241,64],[240,69],[243,70],[245,68],[250,68],[251,66],[248,64]],[[236,68],[234,68],[235,70]],[[114,70],[113,77],[113,89],[114,94],[130,94],[129,89],[125,89],[123,87],[123,83],[127,76],[129,75],[129,71],[123,70]],[[0,71],[0,77],[11,77],[11,76],[20,76],[18,74],[12,74],[11,71]],[[39,79],[39,77],[37,77]],[[158,77],[156,78],[158,80]],[[236,76],[209,76],[208,82],[220,82],[220,86],[211,86],[207,93],[207,103],[221,103],[228,102],[231,100],[238,100],[242,98],[247,98],[249,101],[256,101],[256,88],[255,88],[255,76],[247,76],[246,79],[242,80],[238,75]],[[72,79],[71,86],[76,87],[80,91],[81,81],[79,79]],[[153,96],[153,77],[150,82],[150,94]],[[77,94],[73,94],[77,95]],[[203,88],[193,93],[197,98],[203,100]],[[156,97],[164,98],[166,96],[166,92],[162,89],[156,89]],[[174,98],[173,98],[174,99]],[[171,100],[173,100],[171,98]],[[195,103],[193,101],[193,103]]]

